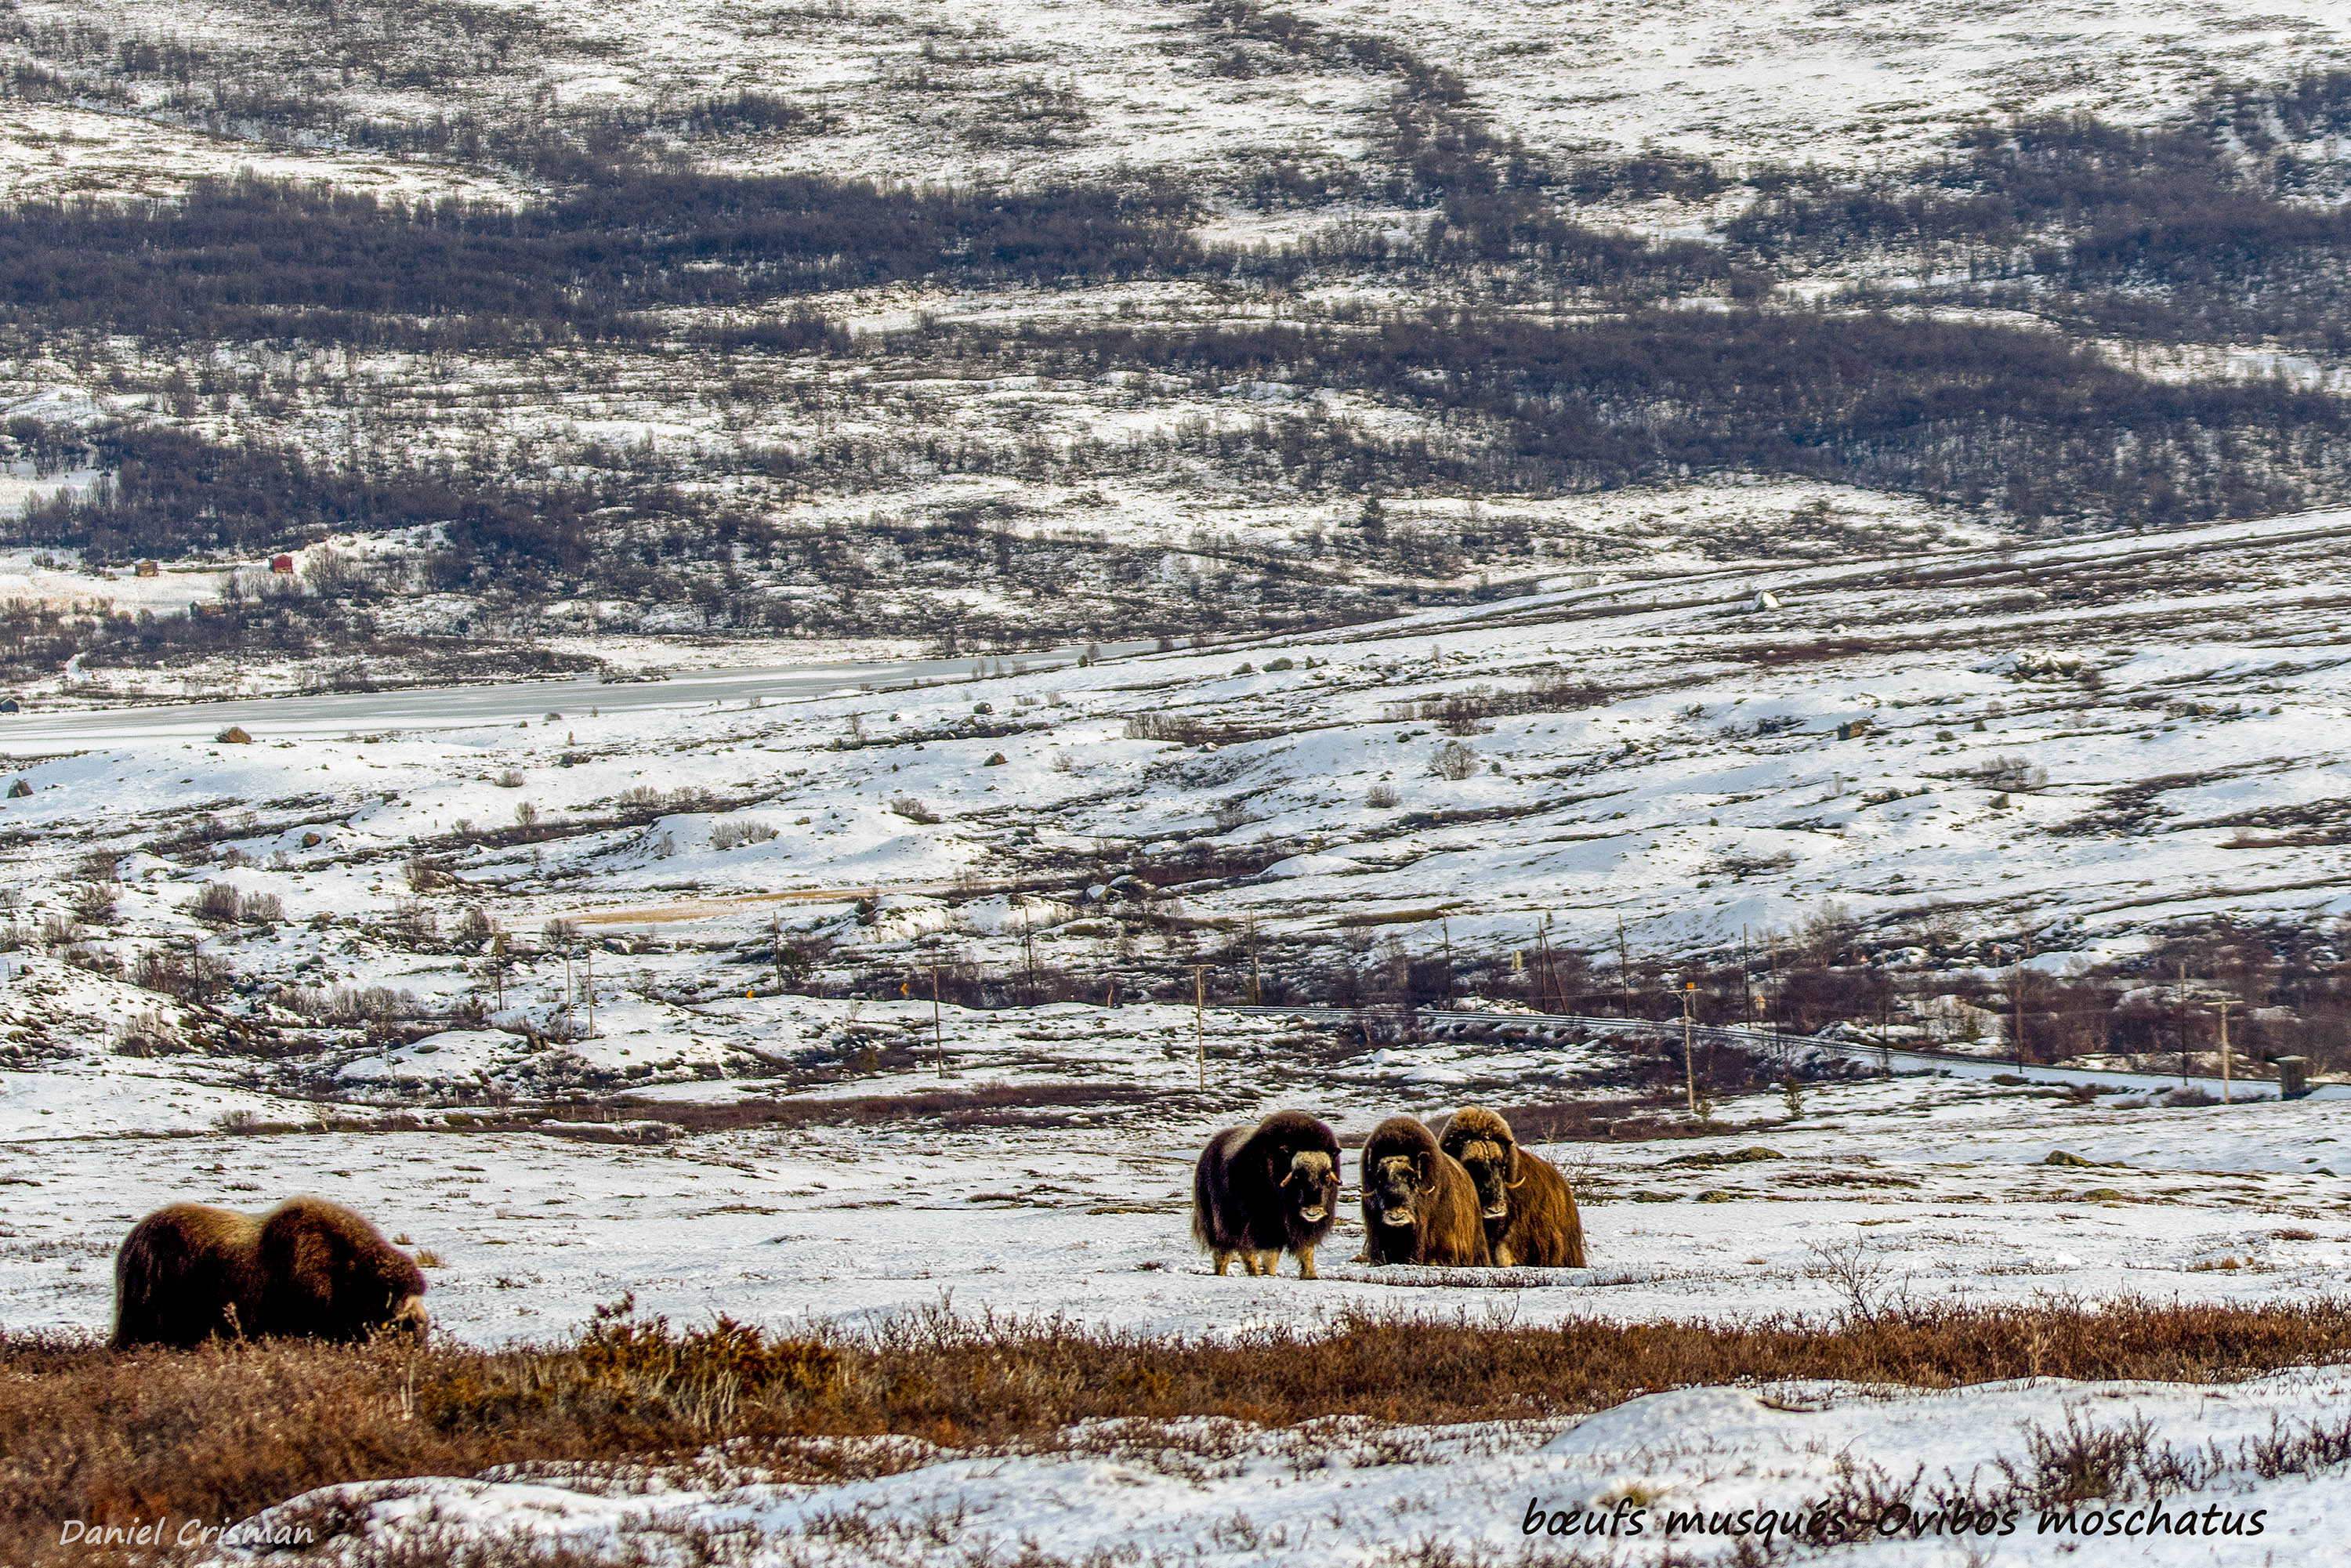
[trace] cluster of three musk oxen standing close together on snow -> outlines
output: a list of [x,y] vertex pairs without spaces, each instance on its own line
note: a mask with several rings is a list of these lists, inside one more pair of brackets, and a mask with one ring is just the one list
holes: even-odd
[[[1566,1178],[1491,1110],[1465,1107],[1436,1131],[1389,1117],[1359,1164],[1364,1262],[1585,1267]],[[1218,1274],[1234,1258],[1272,1274],[1293,1253],[1300,1279],[1314,1279],[1314,1248],[1338,1225],[1338,1135],[1305,1112],[1225,1128],[1192,1168],[1192,1237]]]

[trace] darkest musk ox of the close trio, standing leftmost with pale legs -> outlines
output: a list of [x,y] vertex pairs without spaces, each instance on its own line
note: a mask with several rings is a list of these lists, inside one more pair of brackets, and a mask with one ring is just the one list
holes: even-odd
[[1272,1274],[1298,1253],[1298,1276],[1314,1279],[1314,1248],[1338,1225],[1338,1133],[1302,1110],[1277,1110],[1258,1126],[1227,1126],[1192,1166],[1192,1237],[1215,1253],[1215,1272],[1237,1255],[1251,1274]]

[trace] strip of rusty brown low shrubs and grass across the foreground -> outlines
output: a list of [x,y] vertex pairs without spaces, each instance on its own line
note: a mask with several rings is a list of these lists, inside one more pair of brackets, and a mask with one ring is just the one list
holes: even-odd
[[0,1561],[127,1561],[61,1547],[66,1519],[223,1521],[334,1481],[679,1462],[712,1443],[729,1443],[729,1462],[820,1479],[849,1462],[823,1439],[884,1432],[1051,1446],[1089,1418],[1462,1422],[1599,1410],[1704,1382],[2224,1382],[2346,1354],[2351,1300],[1893,1307],[1834,1326],[1354,1316],[1331,1333],[1237,1342],[945,1312],[853,1340],[776,1340],[726,1319],[679,1331],[623,1300],[571,1342],[501,1352],[270,1342],[118,1356],[31,1335],[0,1340]]

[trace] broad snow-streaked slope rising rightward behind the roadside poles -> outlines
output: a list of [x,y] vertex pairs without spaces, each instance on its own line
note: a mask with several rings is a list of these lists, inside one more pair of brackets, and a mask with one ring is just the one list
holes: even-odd
[[[465,698],[447,726],[343,733],[280,733],[247,703],[252,745],[103,750],[96,731],[71,745],[99,750],[26,759],[0,830],[35,835],[38,919],[92,842],[202,827],[226,863],[132,863],[108,926],[127,954],[195,929],[176,912],[195,884],[233,882],[294,922],[216,936],[240,971],[444,994],[482,978],[388,952],[381,922],[480,907],[524,933],[564,917],[734,945],[783,917],[863,966],[924,966],[943,933],[955,957],[1025,964],[1027,938],[1039,961],[1107,966],[1164,898],[1321,940],[1340,912],[1378,917],[1420,950],[1516,947],[1545,912],[1554,943],[1606,945],[1622,919],[1653,950],[1719,947],[1824,900],[1886,931],[1951,917],[2083,943],[2212,910],[2327,914],[2351,907],[2346,531],[2327,512],[1690,569],[816,701],[752,682],[670,708],[628,689],[604,712],[602,689],[557,710],[524,686],[494,724]],[[0,748],[12,722],[42,733],[0,717]],[[524,813],[536,842],[482,842]],[[423,889],[416,849],[444,872]],[[1262,870],[1114,886],[1138,858],[1230,856]],[[853,912],[868,893],[889,907]],[[691,952],[644,969],[710,978]]]

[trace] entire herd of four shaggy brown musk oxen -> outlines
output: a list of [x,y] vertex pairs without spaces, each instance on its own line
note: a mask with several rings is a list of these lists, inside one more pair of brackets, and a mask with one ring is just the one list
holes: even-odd
[[[1223,1274],[1272,1274],[1281,1253],[1314,1279],[1338,1227],[1338,1135],[1284,1110],[1208,1140],[1192,1171],[1192,1234]],[[1389,1117],[1361,1152],[1364,1260],[1444,1267],[1582,1267],[1568,1182],[1509,1124],[1467,1107],[1432,1131]],[[115,1253],[115,1349],[212,1338],[364,1340],[426,1331],[426,1276],[374,1225],[327,1199],[268,1213],[172,1204]]]

